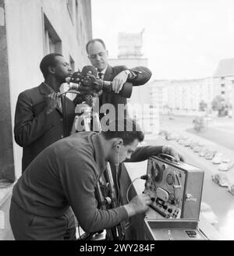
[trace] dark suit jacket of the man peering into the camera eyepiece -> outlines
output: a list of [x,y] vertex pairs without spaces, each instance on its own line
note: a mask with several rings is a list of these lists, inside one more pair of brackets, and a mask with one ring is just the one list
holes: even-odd
[[69,135],[75,117],[75,105],[63,98],[63,112],[57,106],[48,116],[45,114],[45,98],[51,94],[48,85],[42,83],[20,93],[16,103],[14,134],[16,143],[23,147],[22,171],[48,145]]

